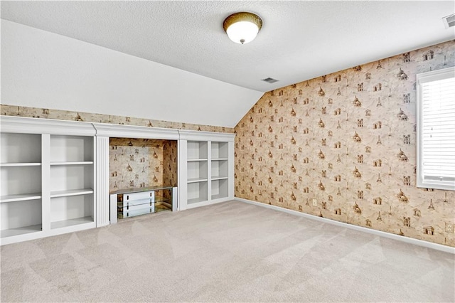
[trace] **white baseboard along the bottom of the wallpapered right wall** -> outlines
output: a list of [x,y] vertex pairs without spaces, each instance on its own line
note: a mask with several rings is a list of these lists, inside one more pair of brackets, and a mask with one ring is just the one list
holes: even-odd
[[449,252],[449,253],[455,255],[455,248],[452,248],[452,247],[446,246],[446,245],[432,243],[432,242],[428,242],[428,241],[424,241],[424,240],[418,240],[418,239],[414,239],[414,238],[403,237],[402,235],[395,235],[393,233],[386,233],[386,232],[381,231],[381,230],[365,228],[363,226],[352,225],[352,224],[348,224],[348,223],[344,223],[344,222],[339,222],[339,221],[336,221],[336,220],[331,220],[331,219],[328,219],[328,218],[321,218],[321,217],[318,217],[318,216],[309,215],[308,213],[301,213],[299,211],[293,211],[291,209],[282,208],[282,207],[279,207],[279,206],[269,205],[269,204],[265,204],[265,203],[260,203],[260,202],[256,202],[256,201],[252,201],[252,200],[247,200],[247,199],[244,199],[244,198],[235,197],[235,201],[240,201],[240,202],[244,202],[244,203],[250,203],[250,204],[254,204],[254,205],[257,205],[257,206],[262,206],[262,207],[265,207],[265,208],[271,208],[271,209],[274,209],[275,211],[282,211],[283,213],[289,213],[289,214],[294,215],[294,216],[301,216],[301,217],[308,218],[308,219],[311,219],[311,220],[316,220],[316,221],[320,221],[320,222],[323,222],[323,223],[328,223],[328,224],[332,224],[332,225],[341,226],[343,228],[350,228],[350,229],[353,229],[353,230],[359,230],[359,231],[362,231],[364,233],[370,233],[372,235],[379,235],[380,237],[390,238],[390,239],[394,239],[394,240],[399,240],[399,241],[402,241],[402,242],[405,242],[405,243],[422,246],[424,248],[431,248],[431,249],[434,249],[434,250],[440,250],[442,252]]

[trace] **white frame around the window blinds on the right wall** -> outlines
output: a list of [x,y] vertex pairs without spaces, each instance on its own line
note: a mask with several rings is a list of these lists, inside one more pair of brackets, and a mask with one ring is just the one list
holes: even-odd
[[[455,191],[455,181],[424,179],[422,155],[422,84],[437,80],[455,78],[455,67],[432,70],[416,75],[417,90],[417,187]],[[455,119],[455,117],[454,117]]]

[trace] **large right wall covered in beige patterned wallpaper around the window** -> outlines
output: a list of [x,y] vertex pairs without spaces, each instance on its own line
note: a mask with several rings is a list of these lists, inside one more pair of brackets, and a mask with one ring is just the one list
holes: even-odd
[[455,246],[455,192],[416,187],[415,87],[454,63],[449,41],[267,92],[235,127],[235,196]]

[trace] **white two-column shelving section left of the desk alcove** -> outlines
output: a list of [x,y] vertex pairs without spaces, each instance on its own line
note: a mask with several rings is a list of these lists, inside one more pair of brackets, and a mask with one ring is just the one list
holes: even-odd
[[1,244],[95,227],[95,129],[76,124],[1,118]]

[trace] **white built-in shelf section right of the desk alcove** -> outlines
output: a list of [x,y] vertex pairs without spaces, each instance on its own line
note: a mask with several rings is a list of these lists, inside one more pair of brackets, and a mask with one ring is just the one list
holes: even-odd
[[234,137],[181,131],[181,210],[234,198]]

